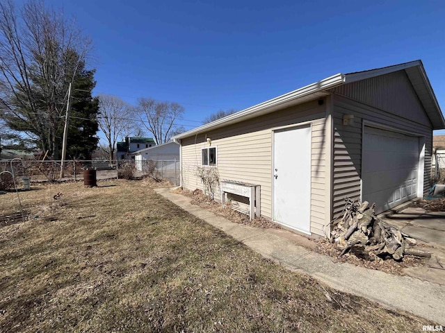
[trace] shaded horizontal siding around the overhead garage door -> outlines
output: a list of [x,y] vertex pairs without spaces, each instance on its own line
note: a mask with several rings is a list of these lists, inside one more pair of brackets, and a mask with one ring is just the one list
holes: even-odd
[[[423,109],[418,110],[423,112]],[[343,114],[353,114],[350,126],[343,126]],[[353,101],[345,96],[334,95],[334,146],[333,146],[333,216],[338,216],[344,207],[343,198],[360,198],[362,169],[362,123],[373,121],[394,130],[417,133],[425,138],[426,153],[423,191],[430,187],[432,130],[430,126],[389,114],[370,105]],[[366,198],[364,198],[366,199]]]

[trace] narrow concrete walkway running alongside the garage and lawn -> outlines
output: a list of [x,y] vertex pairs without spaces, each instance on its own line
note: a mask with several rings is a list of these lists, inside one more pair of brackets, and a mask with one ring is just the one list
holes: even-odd
[[351,264],[334,263],[330,257],[299,246],[294,239],[298,235],[293,232],[232,223],[191,205],[191,198],[171,193],[166,188],[155,190],[172,203],[292,271],[306,273],[334,289],[363,296],[390,309],[400,309],[426,318],[425,325],[445,325],[445,286]]

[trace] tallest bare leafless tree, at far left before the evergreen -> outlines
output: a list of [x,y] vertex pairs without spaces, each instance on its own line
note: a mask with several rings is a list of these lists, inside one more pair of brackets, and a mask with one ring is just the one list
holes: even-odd
[[61,13],[30,0],[0,1],[0,98],[13,130],[58,157],[68,83],[83,68],[90,40]]

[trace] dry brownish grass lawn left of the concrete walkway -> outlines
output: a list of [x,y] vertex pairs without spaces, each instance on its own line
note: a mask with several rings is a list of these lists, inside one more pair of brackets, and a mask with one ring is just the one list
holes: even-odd
[[[56,194],[61,193],[58,199]],[[0,332],[420,332],[264,259],[144,181],[0,195]]]

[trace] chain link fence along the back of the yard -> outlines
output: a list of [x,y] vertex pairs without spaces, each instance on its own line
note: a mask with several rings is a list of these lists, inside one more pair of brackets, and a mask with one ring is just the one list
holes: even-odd
[[[139,165],[138,165],[139,164]],[[32,182],[56,182],[83,180],[83,171],[96,170],[97,180],[113,178],[143,178],[152,176],[167,179],[172,185],[179,185],[179,161],[134,161],[134,160],[68,160],[64,163],[63,174],[60,160],[29,160],[15,158],[0,160],[0,190],[14,187],[23,188]],[[14,178],[12,177],[14,176]]]

